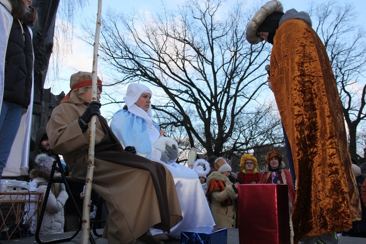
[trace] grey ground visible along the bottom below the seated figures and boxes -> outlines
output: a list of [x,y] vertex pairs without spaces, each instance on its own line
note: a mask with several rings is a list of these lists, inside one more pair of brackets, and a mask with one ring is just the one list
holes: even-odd
[[[65,237],[70,236],[69,233],[61,233],[61,234],[53,234],[53,235],[44,235],[41,238],[42,242],[45,241],[51,241],[51,240],[59,240]],[[108,244],[108,241],[104,238],[95,238],[95,241],[97,244]],[[37,243],[36,239],[34,237],[28,237],[28,238],[20,238],[20,239],[13,239],[9,241],[1,241],[1,244],[33,244]],[[75,237],[70,242],[62,242],[63,244],[79,244],[81,243],[81,232],[78,234],[77,237]],[[165,241],[165,243],[168,244],[181,244],[181,240],[179,239],[170,239],[168,241]],[[339,243],[340,244],[365,244],[366,238],[355,238],[355,237],[339,237]],[[227,231],[227,244],[239,244],[239,232],[238,229],[228,229]]]

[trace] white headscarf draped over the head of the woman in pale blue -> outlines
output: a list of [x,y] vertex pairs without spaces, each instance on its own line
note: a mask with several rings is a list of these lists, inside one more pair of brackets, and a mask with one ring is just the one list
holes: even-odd
[[152,96],[152,92],[149,87],[139,83],[131,83],[127,87],[126,96],[123,101],[126,102],[128,111],[141,117],[147,123],[149,129],[154,128],[154,123],[151,119],[151,102],[147,111],[143,110],[141,107],[137,106],[135,102],[139,100],[142,93],[148,93]]

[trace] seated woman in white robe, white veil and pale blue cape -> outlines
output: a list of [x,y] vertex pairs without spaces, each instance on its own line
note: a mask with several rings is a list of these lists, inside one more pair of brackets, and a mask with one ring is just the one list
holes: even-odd
[[[161,136],[159,125],[151,119],[151,96],[147,86],[129,84],[123,98],[128,109],[117,111],[110,127],[123,147],[135,146],[138,155],[166,163],[173,175],[183,214],[183,220],[171,228],[168,235],[180,238],[183,230],[214,226],[215,222],[196,172],[175,163],[178,158],[177,142]],[[171,149],[170,153],[165,150],[166,145]]]

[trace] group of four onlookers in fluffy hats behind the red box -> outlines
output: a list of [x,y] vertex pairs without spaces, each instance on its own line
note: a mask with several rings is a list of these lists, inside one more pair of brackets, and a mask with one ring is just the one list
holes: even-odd
[[284,168],[282,156],[276,151],[270,151],[265,163],[267,168],[261,173],[257,159],[251,154],[244,154],[240,162],[242,171],[237,174],[235,182],[230,181],[231,166],[222,157],[215,159],[213,167],[204,159],[198,159],[194,163],[193,169],[201,181],[217,227],[237,227],[236,200],[239,184],[287,184],[291,211],[295,189],[289,171]]

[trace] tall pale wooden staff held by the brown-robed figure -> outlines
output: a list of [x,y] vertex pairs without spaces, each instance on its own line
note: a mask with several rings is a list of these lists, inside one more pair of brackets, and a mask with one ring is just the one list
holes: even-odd
[[[93,51],[93,71],[92,71],[92,101],[97,101],[97,70],[98,70],[98,48],[99,37],[101,32],[101,15],[102,15],[102,0],[98,0],[97,27],[95,29],[94,51]],[[89,131],[89,151],[88,151],[88,169],[85,179],[85,193],[82,205],[82,244],[89,243],[90,234],[90,199],[94,174],[94,146],[95,146],[95,128],[97,116],[93,116],[90,121]]]

